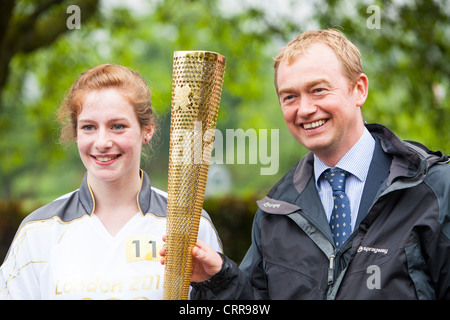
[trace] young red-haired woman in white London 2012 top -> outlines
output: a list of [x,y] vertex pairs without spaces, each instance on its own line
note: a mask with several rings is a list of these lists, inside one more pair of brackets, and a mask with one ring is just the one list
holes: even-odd
[[[87,173],[78,190],[29,215],[0,272],[7,299],[161,299],[159,251],[166,194],[140,169],[154,132],[150,92],[123,66],[100,65],[72,85],[60,109]],[[199,239],[221,251],[203,213]]]

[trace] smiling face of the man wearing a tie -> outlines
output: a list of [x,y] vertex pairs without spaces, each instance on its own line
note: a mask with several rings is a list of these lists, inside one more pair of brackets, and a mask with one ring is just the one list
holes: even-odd
[[348,79],[333,49],[323,43],[312,44],[292,59],[277,64],[284,119],[298,142],[334,166],[364,131],[361,107],[367,77],[361,72]]

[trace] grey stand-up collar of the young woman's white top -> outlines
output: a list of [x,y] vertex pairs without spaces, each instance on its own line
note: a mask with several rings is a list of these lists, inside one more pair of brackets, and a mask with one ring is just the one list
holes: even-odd
[[[143,170],[140,170],[140,177],[141,177],[141,185],[138,191],[136,201],[139,207],[139,211],[143,215],[145,215],[145,213],[150,211],[149,209],[151,203],[151,183],[150,179],[148,178],[148,175]],[[94,213],[95,198],[94,193],[92,192],[92,189],[89,185],[87,173],[84,175],[83,181],[81,182],[79,194],[80,194],[80,203],[84,208],[84,210],[89,215]]]

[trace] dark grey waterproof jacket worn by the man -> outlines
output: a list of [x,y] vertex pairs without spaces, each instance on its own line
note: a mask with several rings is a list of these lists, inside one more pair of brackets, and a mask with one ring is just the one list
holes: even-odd
[[450,299],[449,157],[366,125],[376,140],[357,225],[336,250],[311,153],[258,201],[240,268],[193,284],[196,299]]

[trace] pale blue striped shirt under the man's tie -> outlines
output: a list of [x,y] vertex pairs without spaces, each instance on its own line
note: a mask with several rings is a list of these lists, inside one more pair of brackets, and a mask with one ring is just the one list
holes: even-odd
[[[370,132],[365,128],[364,133],[358,142],[342,157],[336,167],[343,169],[351,175],[345,183],[345,193],[350,201],[352,231],[355,228],[356,218],[358,216],[359,204],[369,173],[370,163],[372,162],[373,152],[375,150],[375,140]],[[333,194],[328,181],[322,176],[322,173],[328,167],[319,158],[314,155],[314,175],[316,178],[316,187],[322,200],[323,208],[330,221],[333,210]]]

